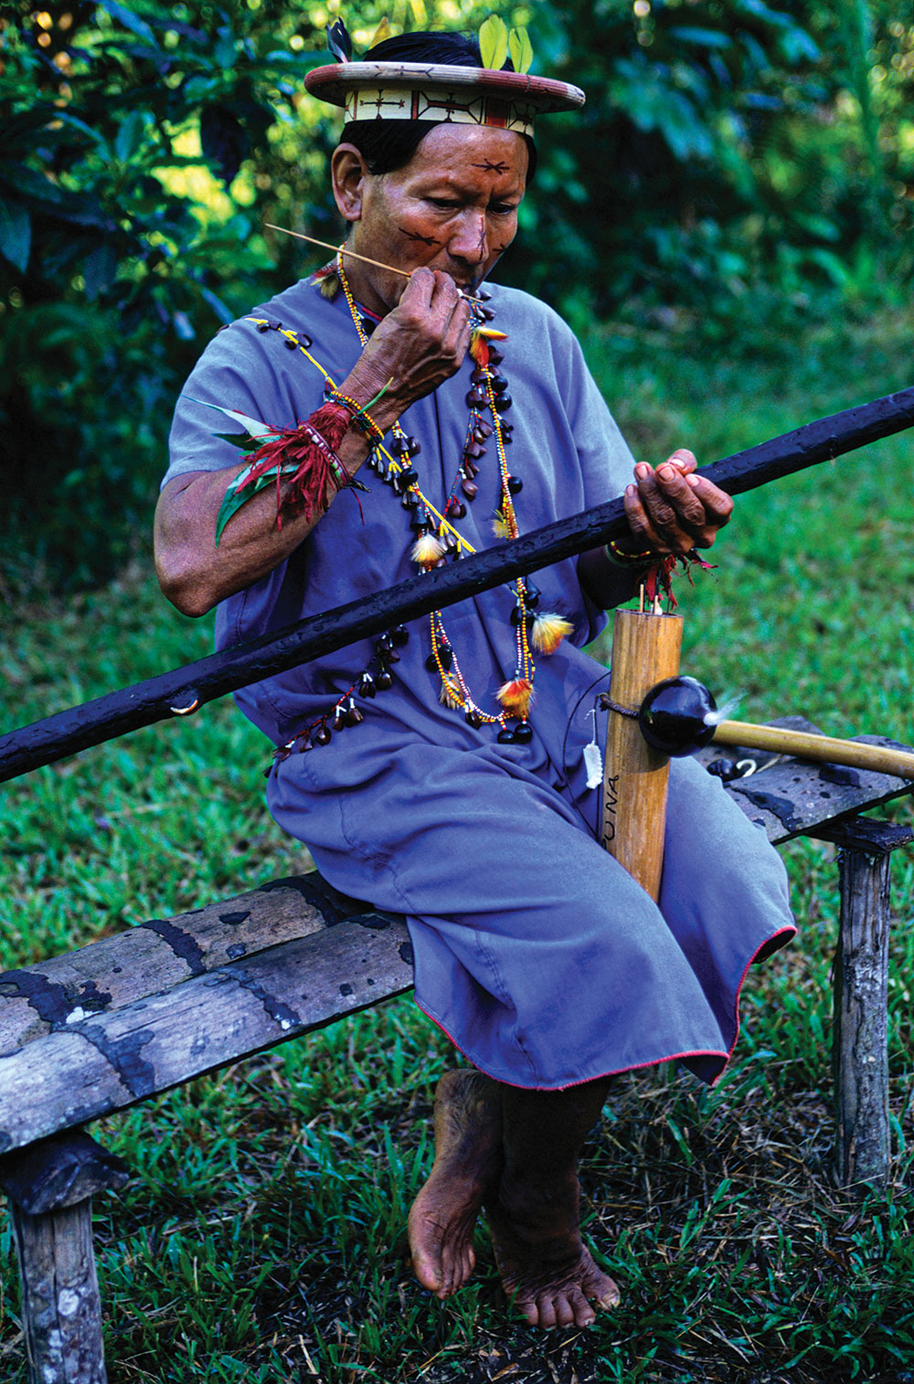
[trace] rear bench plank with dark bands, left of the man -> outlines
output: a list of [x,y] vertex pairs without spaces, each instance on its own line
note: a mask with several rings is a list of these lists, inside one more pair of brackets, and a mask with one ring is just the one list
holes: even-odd
[[316,872],[295,875],[191,913],[154,918],[66,956],[0,973],[0,1057],[364,908]]

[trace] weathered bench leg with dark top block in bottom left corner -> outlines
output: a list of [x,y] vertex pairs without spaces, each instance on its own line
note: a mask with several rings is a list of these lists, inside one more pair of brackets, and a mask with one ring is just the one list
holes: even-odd
[[107,1384],[91,1199],[126,1164],[71,1129],[0,1157],[22,1277],[29,1384]]

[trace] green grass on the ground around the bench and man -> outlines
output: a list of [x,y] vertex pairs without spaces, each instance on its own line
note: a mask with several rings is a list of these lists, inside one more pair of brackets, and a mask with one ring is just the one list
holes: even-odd
[[[636,451],[709,461],[911,383],[902,320],[848,324],[774,354],[594,332],[590,358]],[[683,666],[738,714],[802,713],[831,734],[914,740],[911,435],[738,504],[717,570],[680,590]],[[6,722],[208,652],[144,572],[3,617]],[[7,786],[0,965],[301,869],[262,805],[266,742],[230,702]],[[908,808],[895,814],[907,819]],[[515,1384],[914,1380],[910,977],[914,857],[893,858],[888,1200],[830,1182],[828,847],[789,847],[798,944],[755,973],[724,1080],[619,1080],[584,1167],[587,1232],[623,1289],[587,1331],[510,1319],[492,1253],[439,1305],[403,1223],[431,1161],[447,1045],[409,1001],[337,1024],[108,1121],[133,1168],[100,1199],[112,1381]],[[18,1289],[0,1222],[0,1376],[22,1384]]]

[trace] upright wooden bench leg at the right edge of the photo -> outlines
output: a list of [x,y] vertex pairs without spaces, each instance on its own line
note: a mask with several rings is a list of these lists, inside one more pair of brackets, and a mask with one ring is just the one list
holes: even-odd
[[841,853],[835,956],[835,1181],[889,1178],[889,853]]

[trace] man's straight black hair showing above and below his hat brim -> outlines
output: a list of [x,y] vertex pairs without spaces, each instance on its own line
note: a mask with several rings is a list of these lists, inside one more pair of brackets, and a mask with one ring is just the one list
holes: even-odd
[[[435,62],[449,68],[481,68],[482,54],[474,37],[464,33],[402,33],[368,48],[361,62]],[[511,58],[503,65],[514,72]],[[417,148],[438,120],[350,120],[339,136],[341,144],[353,144],[370,173],[393,173],[406,167]],[[528,185],[536,172],[536,145],[522,136],[528,151]]]

